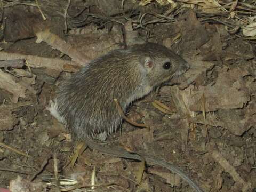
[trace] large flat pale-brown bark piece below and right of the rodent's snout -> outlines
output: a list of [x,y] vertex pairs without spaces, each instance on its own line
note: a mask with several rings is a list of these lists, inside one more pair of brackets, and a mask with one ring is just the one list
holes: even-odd
[[213,86],[194,86],[180,92],[180,98],[190,111],[202,111],[202,97],[205,94],[205,111],[242,108],[250,101],[243,72],[237,69],[227,71],[218,68],[218,78]]

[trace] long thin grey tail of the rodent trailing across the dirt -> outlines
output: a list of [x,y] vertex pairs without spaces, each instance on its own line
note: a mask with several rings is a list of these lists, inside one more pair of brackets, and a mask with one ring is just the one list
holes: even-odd
[[[141,161],[142,158],[138,154],[132,154],[129,153],[128,151],[122,150],[122,149],[110,149],[106,147],[102,147],[98,143],[93,142],[89,137],[85,138],[85,143],[89,146],[89,148],[93,150],[98,150],[103,154],[111,155],[111,156],[116,156],[116,157],[122,157],[122,158],[128,158],[128,159],[134,159],[134,160],[139,160]],[[158,166],[162,166],[176,174],[178,174],[182,179],[188,182],[188,184],[195,189],[197,192],[203,192],[201,188],[198,187],[198,185],[191,180],[185,173],[183,173],[181,170],[178,168],[174,167],[171,163],[165,162],[161,159],[155,158],[155,157],[150,157],[148,155],[143,155],[143,158],[145,158],[145,161],[148,164],[154,164]]]

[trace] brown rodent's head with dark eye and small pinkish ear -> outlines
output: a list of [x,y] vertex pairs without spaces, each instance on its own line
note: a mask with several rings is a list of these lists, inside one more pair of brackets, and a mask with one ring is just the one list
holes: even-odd
[[146,43],[142,49],[144,52],[140,56],[140,63],[151,86],[161,85],[189,69],[187,61],[163,45]]

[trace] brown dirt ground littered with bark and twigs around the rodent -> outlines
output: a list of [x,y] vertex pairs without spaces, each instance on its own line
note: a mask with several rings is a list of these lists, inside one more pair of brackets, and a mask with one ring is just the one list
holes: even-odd
[[79,148],[46,110],[63,77],[145,41],[169,47],[190,69],[127,110],[150,129],[124,122],[105,145],[165,159],[203,191],[256,191],[256,5],[210,2],[4,2],[0,192],[193,191],[162,167]]

